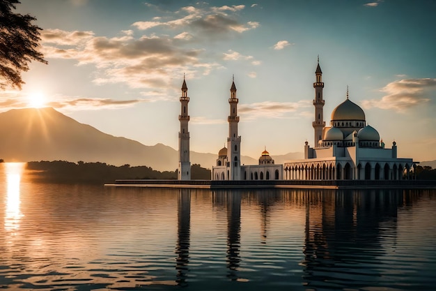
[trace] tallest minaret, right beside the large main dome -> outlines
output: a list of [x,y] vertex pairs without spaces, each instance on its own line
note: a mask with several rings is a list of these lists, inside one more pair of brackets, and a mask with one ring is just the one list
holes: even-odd
[[322,140],[322,130],[325,127],[324,117],[322,117],[322,107],[324,107],[325,102],[324,99],[322,99],[322,88],[324,88],[324,82],[322,82],[319,56],[315,75],[316,82],[313,83],[313,88],[315,88],[315,99],[313,99],[313,106],[315,106],[315,121],[313,121],[312,126],[315,129],[315,144],[313,144],[313,147],[318,147],[318,142]]

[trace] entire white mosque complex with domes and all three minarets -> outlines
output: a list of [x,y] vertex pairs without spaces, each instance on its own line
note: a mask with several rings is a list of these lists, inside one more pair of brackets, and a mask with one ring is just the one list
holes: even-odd
[[[240,164],[241,136],[238,135],[238,98],[233,79],[228,116],[227,147],[219,150],[215,166],[212,167],[212,180],[401,180],[412,179],[412,158],[397,158],[396,142],[391,149],[385,147],[380,135],[372,126],[366,125],[365,113],[359,105],[345,101],[332,112],[330,125],[326,126],[322,107],[322,70],[318,59],[313,83],[315,98],[314,147],[309,142],[304,145],[304,159],[288,161],[277,165],[268,153],[263,151],[258,165]],[[190,179],[189,132],[187,115],[189,97],[185,80],[180,97],[181,114],[179,132],[178,179]]]

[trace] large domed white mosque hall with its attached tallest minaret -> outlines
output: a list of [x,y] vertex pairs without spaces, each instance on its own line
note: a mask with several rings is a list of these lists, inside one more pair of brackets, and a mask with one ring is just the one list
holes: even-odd
[[318,59],[315,88],[314,147],[304,145],[304,159],[283,165],[287,180],[401,180],[411,179],[412,158],[397,158],[396,142],[385,147],[380,135],[366,125],[365,112],[348,96],[332,112],[325,126],[322,71]]

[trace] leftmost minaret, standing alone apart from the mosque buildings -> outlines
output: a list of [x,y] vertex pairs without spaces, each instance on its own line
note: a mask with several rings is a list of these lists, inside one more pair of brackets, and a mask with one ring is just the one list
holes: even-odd
[[189,161],[189,131],[188,131],[188,87],[183,76],[182,96],[180,97],[180,132],[178,133],[178,179],[191,179],[191,162]]

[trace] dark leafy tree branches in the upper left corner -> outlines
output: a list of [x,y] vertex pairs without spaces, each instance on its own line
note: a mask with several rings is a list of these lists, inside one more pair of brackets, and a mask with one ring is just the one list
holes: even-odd
[[36,49],[41,28],[31,22],[35,17],[13,13],[19,0],[0,0],[0,88],[21,89],[21,73],[29,70],[30,61],[47,64]]

